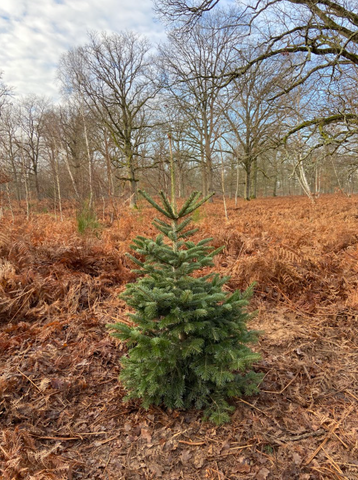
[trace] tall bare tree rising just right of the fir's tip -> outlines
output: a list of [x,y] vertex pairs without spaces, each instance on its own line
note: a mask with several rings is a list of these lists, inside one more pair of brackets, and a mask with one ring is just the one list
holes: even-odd
[[217,79],[233,67],[233,45],[238,41],[238,33],[220,29],[218,20],[209,16],[185,38],[174,31],[160,49],[169,95],[196,138],[205,194],[213,191],[213,152],[226,108]]

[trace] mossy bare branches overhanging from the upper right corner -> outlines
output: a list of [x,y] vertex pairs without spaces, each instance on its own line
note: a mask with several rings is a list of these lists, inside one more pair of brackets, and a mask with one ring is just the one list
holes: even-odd
[[[168,20],[179,19],[185,26],[218,4],[220,0],[157,0],[157,9]],[[340,81],[358,65],[356,0],[239,0],[230,17],[222,28],[246,27],[247,35],[254,34],[260,49],[244,64],[223,74],[228,83],[254,65],[278,56],[290,56],[296,72],[282,86],[280,95],[318,76],[322,87],[327,88],[331,80]],[[357,123],[356,112],[344,109],[334,115],[317,115],[308,126],[339,122]],[[306,123],[297,126],[306,127]]]

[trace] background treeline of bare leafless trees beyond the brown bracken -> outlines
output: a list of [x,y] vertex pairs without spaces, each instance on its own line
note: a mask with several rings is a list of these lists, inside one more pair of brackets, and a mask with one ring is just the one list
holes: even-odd
[[170,158],[178,196],[357,192],[358,57],[333,65],[327,51],[323,68],[323,54],[278,40],[270,54],[274,23],[249,32],[237,12],[209,10],[159,46],[91,34],[59,61],[59,104],[2,85],[0,206],[134,206],[138,186],[168,191]]

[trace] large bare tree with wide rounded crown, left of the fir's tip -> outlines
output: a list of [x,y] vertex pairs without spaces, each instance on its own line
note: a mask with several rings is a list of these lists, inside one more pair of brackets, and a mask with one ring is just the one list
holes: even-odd
[[149,128],[147,108],[157,89],[151,81],[150,45],[134,33],[90,35],[84,47],[61,61],[64,85],[80,95],[111,132],[125,165],[123,180],[131,186],[136,204],[137,158],[144,132]]

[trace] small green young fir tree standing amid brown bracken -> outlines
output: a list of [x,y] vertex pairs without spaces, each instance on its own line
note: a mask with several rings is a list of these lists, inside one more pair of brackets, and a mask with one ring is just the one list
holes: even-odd
[[141,398],[145,408],[204,408],[213,422],[229,421],[234,408],[227,400],[257,391],[262,378],[248,371],[260,358],[247,346],[258,336],[246,326],[252,291],[228,294],[222,289],[228,277],[192,275],[212,266],[222,250],[208,245],[211,238],[197,244],[188,240],[197,231],[187,228],[188,215],[210,196],[200,200],[200,192],[194,192],[177,211],[163,192],[163,206],[141,193],[166,221],[154,220],[161,232],[155,240],[138,236],[131,245],[144,259],[129,255],[140,278],[122,295],[136,312],[129,315],[134,326],[108,325],[128,346],[119,377],[126,398]]

